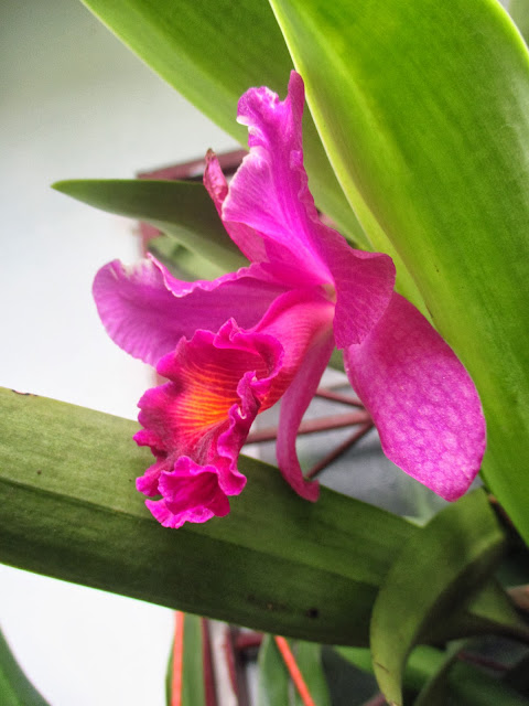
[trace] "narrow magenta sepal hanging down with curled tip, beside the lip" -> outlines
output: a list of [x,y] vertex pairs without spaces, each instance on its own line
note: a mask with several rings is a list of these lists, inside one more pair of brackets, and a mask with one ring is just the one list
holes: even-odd
[[334,340],[330,333],[313,345],[303,360],[298,375],[281,399],[278,426],[278,466],[284,480],[305,500],[316,501],[320,494],[317,481],[307,481],[298,460],[295,437],[301,419],[316,392],[320,379],[333,352]]

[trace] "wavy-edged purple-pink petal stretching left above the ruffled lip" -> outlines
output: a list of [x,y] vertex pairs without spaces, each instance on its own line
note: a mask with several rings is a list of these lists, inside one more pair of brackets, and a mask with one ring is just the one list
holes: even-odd
[[151,365],[197,329],[217,331],[229,317],[244,328],[255,325],[282,291],[260,266],[214,281],[184,282],[152,256],[130,268],[119,260],[109,263],[94,281],[94,298],[110,338]]

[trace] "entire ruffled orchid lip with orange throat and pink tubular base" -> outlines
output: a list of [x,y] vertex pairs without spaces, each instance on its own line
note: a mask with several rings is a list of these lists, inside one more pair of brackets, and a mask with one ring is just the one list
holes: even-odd
[[[253,419],[284,394],[322,340],[330,355],[332,317],[333,304],[320,288],[291,291],[278,297],[252,331],[230,320],[216,334],[197,331],[191,341],[181,339],[161,359],[156,370],[169,382],[141,398],[144,428],[134,439],[156,457],[137,488],[163,495],[149,503],[162,524],[205,522],[210,513],[227,512],[223,498],[240,493],[246,483],[237,459]],[[306,495],[295,472],[287,477]]]

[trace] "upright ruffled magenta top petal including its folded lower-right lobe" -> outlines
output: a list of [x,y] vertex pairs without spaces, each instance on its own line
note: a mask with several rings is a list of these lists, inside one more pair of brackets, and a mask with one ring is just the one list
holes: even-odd
[[250,153],[223,195],[226,227],[245,224],[263,239],[270,270],[292,287],[326,285],[336,292],[338,347],[360,342],[391,299],[395,267],[387,255],[353,249],[317,215],[303,168],[303,81],[292,72],[285,100],[251,88],[239,101]]

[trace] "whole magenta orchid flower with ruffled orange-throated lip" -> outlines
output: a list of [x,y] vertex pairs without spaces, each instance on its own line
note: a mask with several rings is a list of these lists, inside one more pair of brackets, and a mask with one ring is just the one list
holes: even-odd
[[215,281],[175,279],[153,257],[105,266],[94,284],[114,341],[168,382],[139,403],[134,439],[156,461],[138,479],[164,525],[229,512],[246,478],[240,449],[257,414],[281,398],[277,443],[284,479],[303,498],[295,452],[302,416],[335,346],[385,453],[446,500],[474,480],[485,449],[478,395],[453,351],[393,291],[390,257],[353,249],[319,218],[303,168],[304,89],[266,87],[240,99],[250,153],[229,188],[214,154],[204,183],[248,267]]

